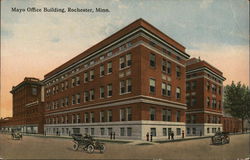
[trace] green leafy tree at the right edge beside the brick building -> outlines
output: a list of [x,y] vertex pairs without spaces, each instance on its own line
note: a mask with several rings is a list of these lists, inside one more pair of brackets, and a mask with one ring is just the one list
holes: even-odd
[[242,121],[242,132],[244,121],[250,119],[250,90],[241,82],[227,85],[224,89],[224,108],[231,116],[240,118]]

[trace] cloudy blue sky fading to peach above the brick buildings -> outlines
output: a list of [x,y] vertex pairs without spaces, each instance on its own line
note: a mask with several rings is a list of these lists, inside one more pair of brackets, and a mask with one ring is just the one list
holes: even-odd
[[[0,117],[12,116],[12,86],[44,75],[138,18],[226,77],[249,85],[248,0],[2,0]],[[24,9],[14,12],[12,8]],[[28,8],[110,12],[28,12]]]

